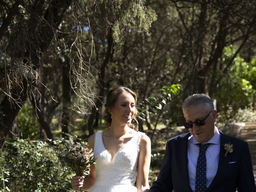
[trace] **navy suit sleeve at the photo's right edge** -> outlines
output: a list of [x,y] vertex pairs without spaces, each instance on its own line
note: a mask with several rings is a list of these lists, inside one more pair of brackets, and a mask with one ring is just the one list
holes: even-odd
[[248,144],[245,142],[242,150],[241,164],[238,175],[238,192],[256,192],[252,160]]

